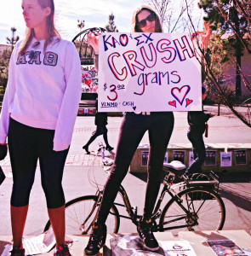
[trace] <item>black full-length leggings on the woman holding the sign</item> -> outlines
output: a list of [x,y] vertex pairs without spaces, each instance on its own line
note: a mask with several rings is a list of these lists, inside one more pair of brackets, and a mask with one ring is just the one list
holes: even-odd
[[144,218],[151,218],[160,188],[163,160],[173,129],[174,114],[172,112],[151,113],[151,115],[126,113],[120,129],[114,165],[106,181],[98,223],[106,223],[119,186],[128,172],[128,167],[145,131],[149,132],[150,154]]

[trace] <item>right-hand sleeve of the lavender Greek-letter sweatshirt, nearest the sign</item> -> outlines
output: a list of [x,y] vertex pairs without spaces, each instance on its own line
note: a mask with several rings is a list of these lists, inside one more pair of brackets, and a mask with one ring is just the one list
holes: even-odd
[[68,148],[74,124],[77,118],[77,110],[81,98],[81,64],[75,45],[67,42],[65,49],[65,79],[66,90],[60,107],[54,133],[54,150],[60,151]]

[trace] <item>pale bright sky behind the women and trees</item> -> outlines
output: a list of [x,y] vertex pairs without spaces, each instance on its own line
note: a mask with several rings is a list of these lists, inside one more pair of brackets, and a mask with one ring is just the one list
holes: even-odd
[[[181,0],[173,0],[175,7]],[[201,19],[202,12],[197,8],[197,0],[193,0],[194,14]],[[85,20],[85,28],[101,26],[108,23],[108,17],[115,15],[115,25],[119,32],[129,32],[131,16],[136,6],[147,4],[147,0],[54,0],[56,27],[62,38],[72,40],[78,32],[77,20]],[[203,21],[200,20],[200,25]],[[26,24],[23,19],[21,0],[9,0],[1,3],[0,9],[0,44],[6,44],[6,38],[11,37],[10,28],[14,26],[15,36],[23,38]]]

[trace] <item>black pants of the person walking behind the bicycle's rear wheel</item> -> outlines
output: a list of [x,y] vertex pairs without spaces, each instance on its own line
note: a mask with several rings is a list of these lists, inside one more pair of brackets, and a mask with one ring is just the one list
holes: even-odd
[[206,158],[206,149],[203,141],[203,133],[197,131],[188,131],[187,137],[192,144],[194,159],[187,171],[189,173],[202,172],[202,165]]

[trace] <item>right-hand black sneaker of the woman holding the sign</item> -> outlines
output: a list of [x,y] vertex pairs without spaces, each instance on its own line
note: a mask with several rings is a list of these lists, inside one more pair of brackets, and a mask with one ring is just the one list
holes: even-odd
[[137,230],[147,250],[157,251],[159,249],[158,242],[151,231],[151,219],[140,221]]

